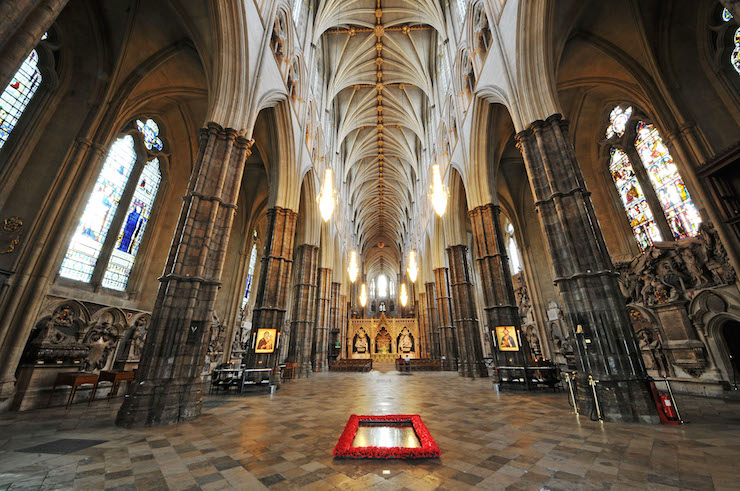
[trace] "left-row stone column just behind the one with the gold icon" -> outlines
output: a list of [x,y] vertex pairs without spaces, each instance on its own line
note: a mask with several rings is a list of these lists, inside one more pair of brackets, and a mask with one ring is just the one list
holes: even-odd
[[319,270],[319,248],[309,244],[296,247],[296,284],[293,290],[293,312],[290,326],[288,361],[296,363],[296,376],[311,373],[311,347],[316,320],[316,288]]

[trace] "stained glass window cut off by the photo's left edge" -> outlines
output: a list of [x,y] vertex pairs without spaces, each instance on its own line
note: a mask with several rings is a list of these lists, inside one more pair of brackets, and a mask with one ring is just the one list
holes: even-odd
[[41,84],[39,56],[36,50],[23,61],[2,95],[0,95],[0,148]]

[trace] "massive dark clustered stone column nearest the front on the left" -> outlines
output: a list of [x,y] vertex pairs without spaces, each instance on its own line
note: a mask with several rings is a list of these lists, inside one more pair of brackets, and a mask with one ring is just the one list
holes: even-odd
[[215,123],[201,130],[136,380],[118,412],[120,426],[176,423],[200,415],[213,306],[252,143]]

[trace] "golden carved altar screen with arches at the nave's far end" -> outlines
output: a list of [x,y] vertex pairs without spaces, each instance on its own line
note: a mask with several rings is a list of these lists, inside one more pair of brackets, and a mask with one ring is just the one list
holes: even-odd
[[393,362],[399,356],[419,358],[416,318],[350,319],[347,329],[349,358]]

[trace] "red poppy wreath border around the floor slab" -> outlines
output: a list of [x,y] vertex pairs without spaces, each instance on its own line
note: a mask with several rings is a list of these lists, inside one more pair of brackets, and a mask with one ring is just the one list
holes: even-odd
[[[352,442],[362,422],[411,423],[420,447],[354,447]],[[358,416],[353,414],[334,447],[334,456],[347,459],[426,459],[439,457],[440,450],[418,414],[389,414],[385,416]]]

